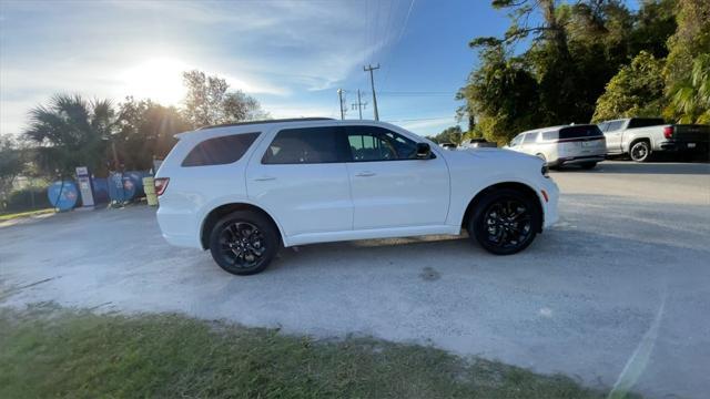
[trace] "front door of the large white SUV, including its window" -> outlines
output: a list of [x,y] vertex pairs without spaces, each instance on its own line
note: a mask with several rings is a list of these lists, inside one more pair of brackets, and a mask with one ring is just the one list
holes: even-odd
[[446,162],[416,158],[416,142],[379,126],[345,127],[353,228],[443,225],[449,205]]

